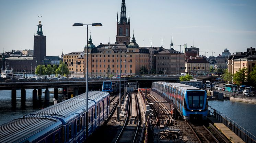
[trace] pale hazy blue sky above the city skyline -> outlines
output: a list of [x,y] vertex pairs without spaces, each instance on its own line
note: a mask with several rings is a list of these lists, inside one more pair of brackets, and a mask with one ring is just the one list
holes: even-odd
[[[61,56],[83,51],[86,27],[73,23],[100,22],[89,26],[93,44],[116,42],[116,15],[120,18],[121,0],[1,0],[0,52],[33,49],[33,35],[39,18],[46,34],[46,55]],[[225,48],[244,52],[256,47],[255,0],[126,0],[127,20],[130,12],[132,30],[139,46],[161,46],[174,49],[187,43],[200,48],[200,55],[218,55]],[[144,43],[143,43],[144,40]],[[183,46],[182,46],[183,49]]]

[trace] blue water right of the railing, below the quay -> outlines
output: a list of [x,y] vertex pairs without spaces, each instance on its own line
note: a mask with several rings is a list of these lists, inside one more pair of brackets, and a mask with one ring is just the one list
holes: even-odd
[[231,100],[211,100],[208,104],[256,136],[256,104]]

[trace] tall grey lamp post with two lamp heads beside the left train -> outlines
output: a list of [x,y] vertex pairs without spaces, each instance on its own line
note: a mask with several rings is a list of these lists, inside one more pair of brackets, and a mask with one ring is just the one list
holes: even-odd
[[82,23],[74,23],[73,26],[84,26],[87,28],[87,41],[86,41],[86,115],[85,115],[85,138],[88,143],[88,25],[92,26],[102,26],[101,23],[93,23],[93,24],[82,24]]

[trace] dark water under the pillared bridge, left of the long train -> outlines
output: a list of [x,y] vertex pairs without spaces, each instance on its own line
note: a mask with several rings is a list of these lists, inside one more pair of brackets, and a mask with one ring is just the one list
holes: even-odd
[[[21,103],[21,90],[17,91],[16,103],[11,102],[11,90],[0,90],[0,125],[16,118],[21,118],[23,115],[41,110],[43,107],[53,105],[53,94],[50,94],[50,101],[44,102],[44,93],[37,103],[32,102],[33,89],[26,89],[26,103]],[[42,89],[44,92],[45,89]],[[53,91],[53,89],[49,89]],[[61,102],[61,94],[58,95],[58,103]]]

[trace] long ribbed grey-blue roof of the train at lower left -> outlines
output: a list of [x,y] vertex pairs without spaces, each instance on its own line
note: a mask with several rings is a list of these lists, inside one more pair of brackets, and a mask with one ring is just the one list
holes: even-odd
[[[108,96],[109,93],[104,91],[88,92],[88,106],[94,106],[95,103]],[[86,93],[0,125],[0,142],[20,142],[27,138],[37,139],[39,136],[33,134],[43,135],[51,129],[66,124],[67,121],[85,111]],[[45,131],[44,128],[48,128],[48,130]]]

